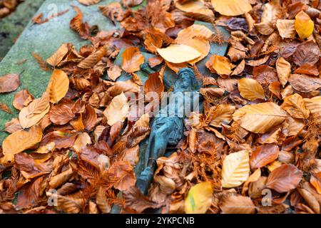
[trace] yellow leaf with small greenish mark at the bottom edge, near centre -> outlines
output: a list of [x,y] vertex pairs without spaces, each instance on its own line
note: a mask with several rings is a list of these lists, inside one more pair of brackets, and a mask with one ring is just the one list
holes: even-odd
[[185,213],[204,214],[212,204],[213,189],[210,182],[201,182],[188,191],[185,199]]

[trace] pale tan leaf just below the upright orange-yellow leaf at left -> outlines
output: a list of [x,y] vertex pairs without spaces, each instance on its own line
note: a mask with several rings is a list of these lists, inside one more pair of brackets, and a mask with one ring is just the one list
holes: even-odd
[[27,107],[21,109],[19,121],[22,128],[30,128],[41,120],[49,112],[50,103],[48,93],[41,98],[33,100]]

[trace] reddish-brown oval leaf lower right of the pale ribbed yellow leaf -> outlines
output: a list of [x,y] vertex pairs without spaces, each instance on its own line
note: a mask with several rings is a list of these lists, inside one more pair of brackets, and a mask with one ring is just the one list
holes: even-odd
[[302,179],[302,171],[294,165],[283,164],[275,168],[267,177],[266,187],[277,192],[288,192],[295,189]]

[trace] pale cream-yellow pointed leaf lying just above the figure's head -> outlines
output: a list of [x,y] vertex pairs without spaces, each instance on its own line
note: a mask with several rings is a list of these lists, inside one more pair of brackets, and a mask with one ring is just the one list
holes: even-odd
[[156,48],[157,52],[170,63],[184,63],[201,56],[195,48],[184,44],[173,44],[167,48]]

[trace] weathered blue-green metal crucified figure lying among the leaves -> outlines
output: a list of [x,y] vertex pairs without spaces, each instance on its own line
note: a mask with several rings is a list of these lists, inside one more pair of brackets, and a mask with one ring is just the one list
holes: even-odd
[[156,160],[165,154],[168,145],[175,146],[183,137],[183,120],[199,105],[198,82],[190,68],[178,71],[169,101],[162,99],[160,110],[154,114],[151,135],[140,162],[143,171],[138,175],[136,187],[146,195],[156,170]]

